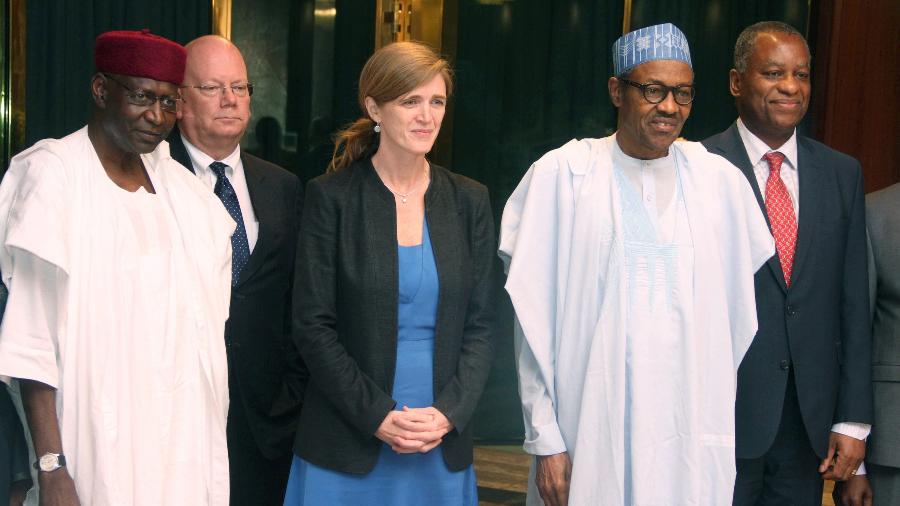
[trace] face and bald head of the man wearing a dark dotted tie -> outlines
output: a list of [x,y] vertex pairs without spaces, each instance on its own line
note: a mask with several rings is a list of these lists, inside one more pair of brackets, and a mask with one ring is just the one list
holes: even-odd
[[[187,52],[178,127],[191,144],[220,160],[234,151],[250,122],[249,94],[239,97],[228,88],[247,83],[247,66],[233,44],[216,36],[191,42]],[[201,85],[226,88],[208,97],[191,88]]]

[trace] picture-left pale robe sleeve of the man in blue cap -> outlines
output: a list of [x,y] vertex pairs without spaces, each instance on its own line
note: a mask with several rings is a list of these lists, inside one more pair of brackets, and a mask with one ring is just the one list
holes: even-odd
[[[568,160],[586,161],[589,153],[588,144],[573,140],[535,162],[507,201],[500,225],[506,288],[516,294],[511,297],[523,447],[533,455],[567,450],[556,415],[558,258],[568,255],[572,209],[583,179],[580,168],[579,174],[570,173]],[[528,286],[512,287],[523,282]]]

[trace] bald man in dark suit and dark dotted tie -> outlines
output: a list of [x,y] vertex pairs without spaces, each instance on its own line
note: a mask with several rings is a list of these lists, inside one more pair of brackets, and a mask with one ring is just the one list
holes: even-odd
[[224,336],[231,504],[280,505],[305,383],[290,334],[302,188],[293,174],[241,152],[253,86],[237,47],[205,36],[187,50],[172,157],[222,199],[238,224]]

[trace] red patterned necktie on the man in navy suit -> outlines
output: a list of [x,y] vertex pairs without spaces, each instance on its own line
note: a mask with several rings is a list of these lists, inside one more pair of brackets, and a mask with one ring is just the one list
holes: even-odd
[[794,250],[797,248],[797,217],[794,215],[794,203],[781,180],[781,162],[784,155],[778,151],[770,151],[763,158],[769,162],[769,179],[766,180],[766,214],[772,225],[775,236],[775,250],[781,260],[784,271],[784,284],[790,288],[791,271],[794,268]]

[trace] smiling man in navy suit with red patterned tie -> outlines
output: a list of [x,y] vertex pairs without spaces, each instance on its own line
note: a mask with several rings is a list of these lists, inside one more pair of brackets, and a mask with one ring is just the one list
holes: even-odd
[[872,423],[862,172],[797,135],[809,75],[797,30],[747,28],[729,80],[740,117],[704,141],[747,176],[777,251],[756,273],[759,330],[738,371],[735,505],[821,505],[823,479],[857,472]]

